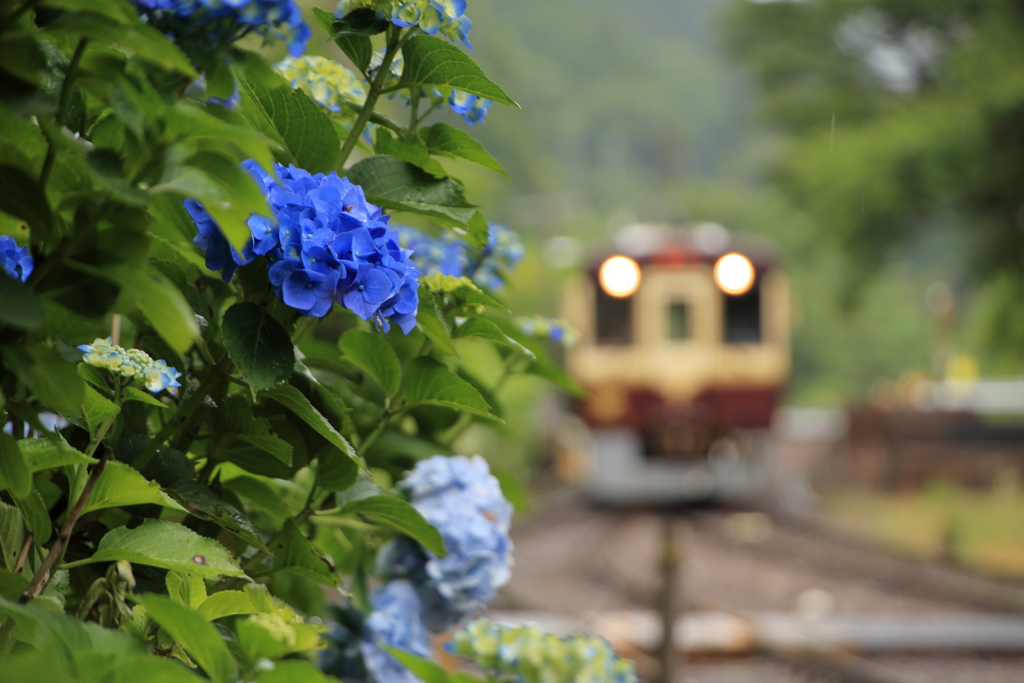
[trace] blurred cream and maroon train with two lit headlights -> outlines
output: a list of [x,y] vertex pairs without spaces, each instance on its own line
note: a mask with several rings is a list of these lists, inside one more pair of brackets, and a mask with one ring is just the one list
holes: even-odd
[[770,485],[768,429],[791,372],[775,246],[717,223],[631,225],[563,296],[588,397],[583,489],[597,503],[741,501]]

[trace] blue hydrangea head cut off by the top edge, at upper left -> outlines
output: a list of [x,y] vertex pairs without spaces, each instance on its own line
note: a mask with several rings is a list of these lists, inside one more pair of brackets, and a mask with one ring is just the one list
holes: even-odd
[[176,42],[227,45],[249,33],[298,56],[311,35],[295,0],[132,0],[143,22]]

